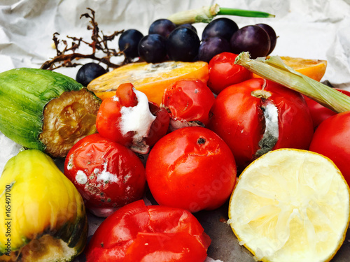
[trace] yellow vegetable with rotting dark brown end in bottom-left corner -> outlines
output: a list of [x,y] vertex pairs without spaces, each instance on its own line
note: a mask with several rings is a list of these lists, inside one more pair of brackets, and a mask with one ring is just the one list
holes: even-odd
[[0,177],[0,261],[71,261],[85,247],[83,198],[48,155],[24,150]]

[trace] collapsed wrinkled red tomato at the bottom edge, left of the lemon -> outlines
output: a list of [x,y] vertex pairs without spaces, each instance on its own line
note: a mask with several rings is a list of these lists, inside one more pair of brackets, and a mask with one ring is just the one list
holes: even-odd
[[202,262],[210,243],[190,212],[136,201],[102,222],[85,254],[87,262]]

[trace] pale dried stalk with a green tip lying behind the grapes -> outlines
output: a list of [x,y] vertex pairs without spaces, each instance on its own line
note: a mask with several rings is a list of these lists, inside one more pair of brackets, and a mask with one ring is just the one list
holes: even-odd
[[254,10],[243,10],[236,8],[221,8],[218,4],[212,6],[203,6],[202,8],[186,10],[179,13],[170,15],[167,19],[174,22],[174,24],[193,24],[193,23],[209,23],[216,15],[236,15],[244,17],[274,17],[274,15],[254,11]]

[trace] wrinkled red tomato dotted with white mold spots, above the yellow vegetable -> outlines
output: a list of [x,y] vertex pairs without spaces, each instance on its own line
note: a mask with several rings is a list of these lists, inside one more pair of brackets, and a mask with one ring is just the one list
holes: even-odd
[[79,140],[66,156],[64,175],[73,182],[85,206],[107,217],[144,195],[144,164],[127,147],[98,133]]

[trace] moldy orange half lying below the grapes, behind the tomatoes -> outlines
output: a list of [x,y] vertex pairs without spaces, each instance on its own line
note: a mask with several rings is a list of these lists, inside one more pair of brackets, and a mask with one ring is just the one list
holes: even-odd
[[100,99],[106,99],[116,94],[120,84],[131,82],[137,90],[146,94],[148,101],[160,104],[165,88],[177,80],[188,78],[207,82],[208,64],[204,61],[127,64],[92,80],[87,85],[87,89],[94,92]]

